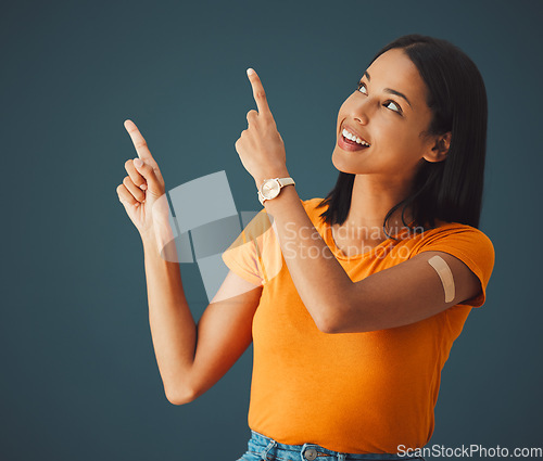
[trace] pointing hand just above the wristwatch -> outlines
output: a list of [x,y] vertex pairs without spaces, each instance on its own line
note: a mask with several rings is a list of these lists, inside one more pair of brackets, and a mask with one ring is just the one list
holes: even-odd
[[[252,73],[251,73],[252,71]],[[236,141],[236,151],[243,167],[251,174],[258,188],[264,179],[289,176],[287,156],[281,135],[269,110],[261,79],[253,69],[248,69],[253,97],[258,111],[247,114],[248,128]]]

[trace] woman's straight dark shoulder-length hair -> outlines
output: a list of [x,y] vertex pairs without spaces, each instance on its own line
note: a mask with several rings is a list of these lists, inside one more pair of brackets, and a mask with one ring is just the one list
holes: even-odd
[[[394,205],[384,217],[413,203],[417,226],[430,228],[434,219],[479,227],[482,206],[484,156],[487,152],[488,103],[484,82],[475,63],[453,43],[418,34],[397,38],[380,50],[370,64],[386,51],[402,49],[417,67],[427,86],[427,104],[432,120],[426,135],[451,131],[451,144],[442,162],[427,162],[417,170],[413,193]],[[351,207],[354,174],[340,171],[333,189],[317,205],[328,208],[320,218],[329,226],[342,225]]]

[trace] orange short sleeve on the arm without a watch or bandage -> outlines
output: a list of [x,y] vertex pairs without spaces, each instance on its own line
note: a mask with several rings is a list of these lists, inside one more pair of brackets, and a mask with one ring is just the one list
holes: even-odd
[[263,208],[223,253],[226,266],[254,285],[263,285],[263,252],[272,232],[272,221]]

